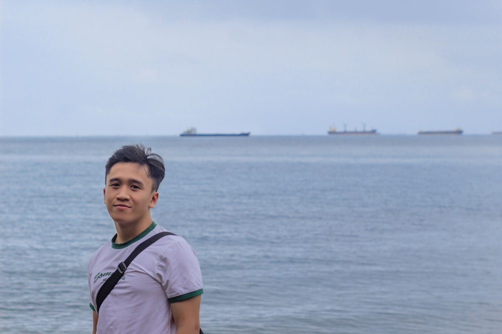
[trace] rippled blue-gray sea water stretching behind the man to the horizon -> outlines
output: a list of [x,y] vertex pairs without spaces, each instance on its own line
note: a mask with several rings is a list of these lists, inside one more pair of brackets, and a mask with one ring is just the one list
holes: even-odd
[[153,216],[199,256],[206,333],[502,332],[502,136],[0,139],[0,332],[91,331],[133,142],[166,160]]

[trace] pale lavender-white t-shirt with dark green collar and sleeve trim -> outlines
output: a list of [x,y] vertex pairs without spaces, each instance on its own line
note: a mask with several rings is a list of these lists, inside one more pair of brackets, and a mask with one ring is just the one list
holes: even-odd
[[[149,237],[166,231],[155,222],[126,243],[107,242],[88,263],[90,307],[107,277]],[[202,294],[202,274],[193,248],[181,236],[168,235],[131,262],[99,308],[97,333],[176,333],[171,303]]]

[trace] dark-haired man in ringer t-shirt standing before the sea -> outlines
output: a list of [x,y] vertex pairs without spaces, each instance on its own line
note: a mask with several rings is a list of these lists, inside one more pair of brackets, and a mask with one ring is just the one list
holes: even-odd
[[89,259],[93,334],[199,333],[202,275],[192,247],[168,235],[143,250],[97,309],[104,281],[141,241],[166,231],[151,217],[165,168],[161,156],[122,146],[106,163],[104,203],[116,234]]

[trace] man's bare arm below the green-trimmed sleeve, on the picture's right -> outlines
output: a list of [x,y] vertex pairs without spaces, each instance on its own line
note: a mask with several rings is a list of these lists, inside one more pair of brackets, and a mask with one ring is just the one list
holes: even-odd
[[201,296],[198,295],[182,301],[173,302],[171,304],[174,322],[176,323],[176,334],[199,333],[200,300]]

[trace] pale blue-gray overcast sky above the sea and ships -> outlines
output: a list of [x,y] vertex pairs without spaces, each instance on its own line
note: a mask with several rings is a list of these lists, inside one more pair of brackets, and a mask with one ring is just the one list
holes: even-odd
[[502,130],[501,0],[1,4],[0,136]]

